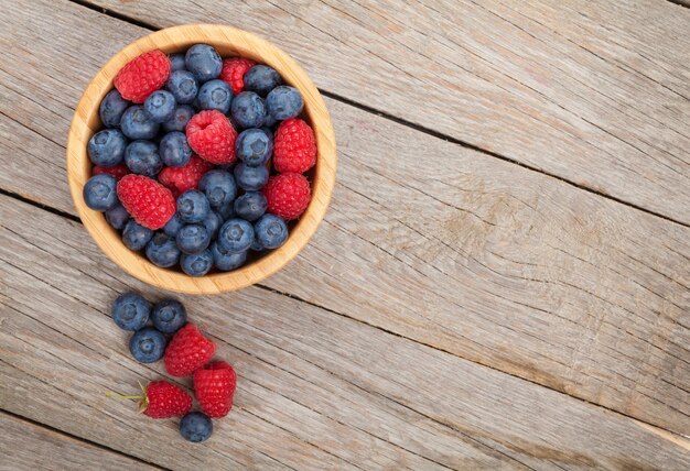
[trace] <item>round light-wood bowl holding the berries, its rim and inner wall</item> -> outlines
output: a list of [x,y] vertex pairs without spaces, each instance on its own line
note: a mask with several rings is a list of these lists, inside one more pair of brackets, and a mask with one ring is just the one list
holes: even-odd
[[[91,176],[86,146],[91,135],[103,128],[98,108],[100,100],[112,89],[112,79],[118,70],[147,51],[159,48],[170,54],[185,51],[197,43],[213,45],[223,57],[239,55],[267,64],[278,70],[287,84],[298,88],[304,98],[304,113],[316,136],[317,158],[312,173],[312,200],[280,249],[233,272],[193,277],[179,269],[158,267],[145,256],[129,250],[104,215],[86,206],[82,193]],[[288,54],[255,34],[215,24],[190,24],[161,30],[134,41],[116,54],[88,84],[74,113],[67,141],[67,178],[72,198],[84,226],[98,247],[127,273],[153,286],[179,293],[214,294],[240,289],[261,282],[294,259],[325,216],[335,184],[335,135],[331,117],[321,94],[302,67]]]

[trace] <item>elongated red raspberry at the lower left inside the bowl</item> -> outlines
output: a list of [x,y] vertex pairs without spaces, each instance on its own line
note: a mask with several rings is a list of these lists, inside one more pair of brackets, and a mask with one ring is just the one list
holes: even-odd
[[170,189],[143,175],[125,175],[118,183],[118,198],[141,226],[160,229],[176,210]]

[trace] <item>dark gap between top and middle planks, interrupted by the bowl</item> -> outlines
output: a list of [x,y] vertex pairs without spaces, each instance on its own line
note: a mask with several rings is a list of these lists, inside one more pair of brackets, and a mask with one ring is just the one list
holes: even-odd
[[[89,10],[97,11],[97,12],[99,12],[101,14],[107,15],[107,17],[110,17],[110,18],[114,18],[114,19],[117,19],[117,20],[120,20],[120,21],[125,21],[127,23],[134,24],[134,25],[140,26],[140,28],[144,28],[144,29],[150,30],[150,31],[159,31],[159,30],[161,30],[160,28],[158,28],[158,26],[155,26],[155,25],[153,25],[151,23],[138,20],[138,19],[132,18],[130,15],[122,14],[122,13],[119,13],[117,11],[104,8],[104,7],[99,7],[97,4],[91,3],[88,0],[69,0],[69,1],[73,2],[73,3],[79,4],[82,7],[88,8]],[[680,4],[680,6],[686,7],[686,8],[690,8],[690,0],[667,0],[667,1],[670,1],[671,3]],[[345,105],[349,105],[349,106],[355,107],[357,109],[360,109],[363,111],[367,111],[367,112],[377,114],[377,116],[379,116],[381,118],[385,118],[385,119],[393,121],[393,122],[396,122],[398,124],[401,124],[401,125],[414,129],[414,130],[417,130],[419,132],[422,132],[424,134],[431,135],[433,138],[441,139],[441,140],[446,141],[446,142],[451,142],[453,144],[457,144],[457,145],[461,145],[461,146],[466,147],[466,149],[471,149],[473,151],[479,152],[479,153],[482,153],[484,155],[487,155],[489,157],[498,158],[500,161],[508,162],[508,163],[511,163],[514,165],[519,165],[519,166],[521,166],[524,168],[527,168],[529,171],[532,171],[532,172],[546,175],[546,176],[551,177],[551,178],[556,178],[556,179],[558,179],[560,182],[563,182],[563,183],[565,183],[565,184],[568,184],[570,186],[575,187],[575,188],[579,188],[579,189],[582,189],[584,191],[587,191],[587,193],[601,196],[602,198],[611,199],[611,200],[616,201],[616,202],[618,202],[621,205],[625,205],[625,206],[628,206],[630,208],[637,209],[639,211],[646,212],[648,215],[656,216],[658,218],[665,219],[665,220],[670,221],[670,222],[675,222],[675,223],[680,224],[680,226],[686,227],[686,228],[690,228],[690,223],[686,223],[686,222],[682,222],[680,220],[677,220],[677,219],[670,218],[668,216],[661,215],[659,212],[653,211],[650,209],[643,208],[642,206],[635,205],[633,202],[625,201],[625,200],[623,200],[621,198],[617,198],[615,196],[612,196],[612,195],[608,195],[606,193],[600,191],[600,190],[597,190],[595,188],[591,188],[589,186],[585,186],[585,185],[582,185],[582,184],[579,184],[579,183],[575,183],[575,182],[571,182],[569,179],[562,178],[562,177],[560,177],[560,176],[558,176],[556,174],[552,174],[550,172],[546,172],[546,171],[543,171],[543,169],[541,169],[539,167],[521,163],[521,162],[519,162],[519,161],[517,161],[515,158],[511,158],[511,157],[509,157],[507,155],[502,155],[499,153],[496,153],[496,152],[483,149],[483,147],[481,147],[478,145],[475,145],[475,144],[472,144],[470,142],[461,141],[459,139],[455,139],[455,138],[452,138],[450,135],[443,134],[441,132],[438,132],[438,131],[435,131],[433,129],[430,129],[430,128],[427,128],[424,125],[420,125],[420,124],[410,122],[410,121],[408,121],[406,119],[396,117],[393,114],[387,113],[385,111],[378,110],[378,109],[369,107],[367,105],[363,105],[363,103],[359,103],[357,101],[351,100],[348,98],[342,97],[342,96],[339,96],[337,94],[334,94],[334,92],[331,92],[331,91],[327,91],[327,90],[323,90],[323,89],[319,89],[319,91],[323,96],[325,96],[325,97],[328,97],[331,99],[341,101],[341,102],[343,102]]]

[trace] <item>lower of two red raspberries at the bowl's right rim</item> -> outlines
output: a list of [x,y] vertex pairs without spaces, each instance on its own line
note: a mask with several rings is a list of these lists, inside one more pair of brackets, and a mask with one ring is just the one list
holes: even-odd
[[268,201],[267,212],[283,219],[297,219],[309,206],[311,188],[301,174],[280,174],[268,179],[263,187]]

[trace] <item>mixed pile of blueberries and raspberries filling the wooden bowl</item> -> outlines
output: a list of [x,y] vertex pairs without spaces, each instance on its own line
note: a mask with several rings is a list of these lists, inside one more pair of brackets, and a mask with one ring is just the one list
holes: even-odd
[[[267,64],[224,57],[209,43],[150,48],[120,67],[112,85],[98,102],[96,129],[79,143],[89,161],[79,202],[103,212],[121,244],[148,261],[144,273],[211,277],[285,244],[310,207],[322,158],[298,87]],[[333,182],[326,186],[330,197]],[[230,288],[256,283],[300,249]],[[176,283],[162,287],[193,292]]]

